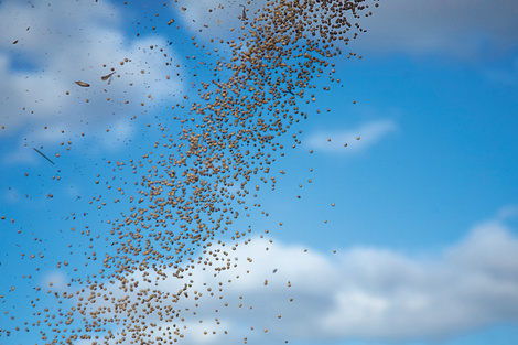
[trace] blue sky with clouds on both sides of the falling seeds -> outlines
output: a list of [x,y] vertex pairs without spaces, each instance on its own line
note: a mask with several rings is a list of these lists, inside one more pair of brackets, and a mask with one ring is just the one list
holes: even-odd
[[[56,311],[46,290],[99,271],[86,257],[114,249],[108,220],[129,213],[126,197],[137,197],[134,182],[150,168],[133,174],[116,162],[169,154],[153,147],[158,123],[175,136],[171,117],[185,115],[175,105],[195,99],[191,83],[212,77],[202,56],[228,54],[209,40],[236,37],[242,8],[222,2],[207,15],[219,2],[0,2],[0,328],[33,322],[35,298]],[[206,298],[205,323],[186,320],[185,344],[518,342],[518,3],[392,0],[373,12],[361,21],[367,33],[331,61],[341,83],[322,91],[324,73],[316,101],[300,103],[309,117],[292,130],[302,143],[281,139],[276,190],[265,185],[249,201],[268,217],[252,208],[230,228],[251,226],[252,241],[217,281],[240,276],[225,300],[244,295],[253,310],[230,306],[216,325],[217,301]],[[110,67],[120,77],[108,86],[100,76]],[[35,327],[0,334],[2,344],[41,342]]]

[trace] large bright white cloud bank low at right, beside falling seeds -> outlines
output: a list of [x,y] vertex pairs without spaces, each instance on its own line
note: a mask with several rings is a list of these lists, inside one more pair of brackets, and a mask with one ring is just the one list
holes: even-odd
[[[265,314],[281,313],[278,324],[253,315],[240,321],[262,322],[279,339],[292,341],[433,341],[518,322],[518,238],[500,223],[476,227],[434,259],[378,248],[341,251],[330,257],[256,240],[246,250],[257,262],[252,276],[229,284],[226,298],[251,295]],[[271,288],[261,287],[265,278]],[[288,297],[295,299],[292,306]]]

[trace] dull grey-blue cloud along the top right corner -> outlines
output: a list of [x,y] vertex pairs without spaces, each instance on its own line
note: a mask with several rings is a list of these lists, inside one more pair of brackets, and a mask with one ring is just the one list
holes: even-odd
[[380,1],[361,21],[361,52],[487,58],[518,46],[518,2],[494,0]]

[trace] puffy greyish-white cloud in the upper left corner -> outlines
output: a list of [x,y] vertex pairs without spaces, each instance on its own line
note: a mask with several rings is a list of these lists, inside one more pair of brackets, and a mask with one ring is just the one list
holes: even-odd
[[[175,52],[161,36],[128,43],[121,15],[106,2],[55,0],[34,7],[2,2],[0,125],[6,129],[0,136],[17,133],[19,144],[21,138],[30,145],[55,143],[63,140],[62,131],[71,138],[83,131],[87,136],[105,131],[111,125],[122,129],[123,121],[149,105],[173,103],[183,89],[176,79],[181,71],[165,62],[172,58],[174,66]],[[151,45],[164,51],[151,50]],[[125,58],[129,61],[120,65]],[[116,74],[108,85],[100,77],[111,67]],[[77,80],[90,87],[80,87]]]

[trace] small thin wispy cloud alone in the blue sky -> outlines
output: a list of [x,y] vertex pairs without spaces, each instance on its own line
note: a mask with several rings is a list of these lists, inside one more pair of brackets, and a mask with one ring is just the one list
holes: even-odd
[[[313,132],[305,140],[305,145],[309,149],[316,150],[315,152],[360,152],[377,144],[388,134],[397,131],[397,129],[398,126],[392,120],[375,120],[365,122],[350,130],[338,131],[333,129],[325,132]],[[359,140],[357,139],[358,137],[360,138]]]

